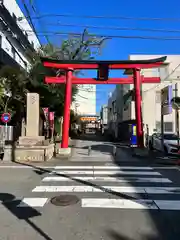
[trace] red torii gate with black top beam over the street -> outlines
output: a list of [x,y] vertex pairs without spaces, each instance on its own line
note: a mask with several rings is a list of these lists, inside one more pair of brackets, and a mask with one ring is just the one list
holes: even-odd
[[[137,127],[138,147],[143,146],[143,127],[141,115],[141,83],[159,83],[159,77],[144,77],[140,75],[141,69],[157,68],[164,63],[166,57],[150,60],[123,60],[123,61],[87,61],[87,60],[54,60],[41,58],[45,67],[62,69],[66,76],[45,77],[46,83],[65,83],[65,104],[63,117],[62,148],[68,148],[70,107],[72,97],[72,84],[134,84],[135,88],[135,113]],[[89,69],[98,70],[97,78],[77,78],[73,76],[74,70]],[[109,69],[132,69],[133,76],[128,78],[108,78]]]

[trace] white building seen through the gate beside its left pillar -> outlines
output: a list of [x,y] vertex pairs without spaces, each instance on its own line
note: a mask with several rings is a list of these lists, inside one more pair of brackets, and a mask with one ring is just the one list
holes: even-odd
[[96,115],[96,85],[78,85],[71,109],[78,115]]

